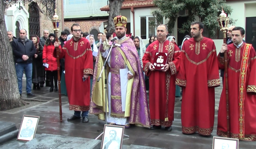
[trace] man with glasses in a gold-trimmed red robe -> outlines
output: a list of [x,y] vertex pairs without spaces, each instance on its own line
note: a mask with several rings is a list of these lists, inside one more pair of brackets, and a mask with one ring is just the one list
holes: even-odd
[[[86,38],[80,37],[81,27],[79,24],[71,26],[73,38],[68,40],[60,49],[60,59],[65,59],[65,81],[69,110],[74,110],[74,115],[68,121],[80,119],[89,122],[88,112],[90,109],[90,78],[93,75],[92,49]],[[58,42],[54,43],[59,46]],[[56,56],[56,50],[53,53]],[[82,114],[81,114],[82,111]]]

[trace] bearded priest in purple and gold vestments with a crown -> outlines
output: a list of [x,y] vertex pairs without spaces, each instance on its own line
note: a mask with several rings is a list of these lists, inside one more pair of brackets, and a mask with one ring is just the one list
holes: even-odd
[[[108,43],[106,35],[100,40],[101,52],[98,52],[94,69],[90,112],[105,120],[107,110],[107,122],[110,125],[124,125],[129,128],[130,124],[140,124],[150,127],[143,71],[134,42],[126,36],[127,18],[117,16],[114,18],[114,24],[116,40]],[[108,106],[105,109],[105,73],[99,82],[97,79],[112,44],[113,48],[107,61],[107,67],[110,68],[107,72]]]

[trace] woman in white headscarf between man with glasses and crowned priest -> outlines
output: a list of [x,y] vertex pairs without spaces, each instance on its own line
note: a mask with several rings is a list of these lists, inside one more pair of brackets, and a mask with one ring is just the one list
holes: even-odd
[[[95,39],[93,35],[88,35],[86,37],[86,39],[89,41],[91,48],[92,48],[92,57],[93,57],[93,72],[94,72],[94,67],[95,67],[95,62],[96,62],[96,57],[97,57],[97,53],[98,53],[98,48],[95,44]],[[93,76],[90,76],[90,88],[91,88],[91,92],[90,95],[92,96],[92,82],[93,82]]]

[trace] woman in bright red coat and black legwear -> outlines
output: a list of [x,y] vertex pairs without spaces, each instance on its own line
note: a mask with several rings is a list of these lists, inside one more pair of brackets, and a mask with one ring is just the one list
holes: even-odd
[[[54,91],[58,91],[58,68],[57,68],[57,59],[52,56],[52,53],[55,49],[54,47],[55,42],[55,34],[49,34],[49,38],[45,41],[44,49],[43,49],[43,63],[48,64],[48,68],[45,67],[46,73],[49,75],[50,78],[50,92],[53,91],[53,79],[54,79]],[[61,46],[59,47],[61,48]]]

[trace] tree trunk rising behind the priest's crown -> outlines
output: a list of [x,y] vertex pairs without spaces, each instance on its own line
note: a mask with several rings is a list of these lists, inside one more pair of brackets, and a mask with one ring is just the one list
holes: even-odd
[[113,34],[115,32],[114,18],[120,15],[120,10],[124,0],[109,0],[109,16],[107,23],[107,32]]

